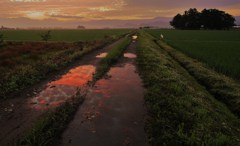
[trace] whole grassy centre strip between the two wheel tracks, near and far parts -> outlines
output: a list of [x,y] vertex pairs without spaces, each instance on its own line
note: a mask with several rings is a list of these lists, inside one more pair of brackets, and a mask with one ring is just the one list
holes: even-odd
[[[91,82],[91,84],[94,84],[98,79],[100,79],[111,67],[111,65],[117,61],[129,42],[129,38],[123,38],[122,41],[114,46],[108,55],[101,60],[99,65],[100,67],[97,69],[94,81]],[[59,139],[61,133],[65,130],[66,125],[72,120],[73,115],[83,100],[84,96],[81,96],[79,93],[77,97],[73,98],[69,102],[66,102],[56,110],[47,112],[43,118],[36,122],[32,130],[15,145],[48,146],[58,144],[56,140]]]

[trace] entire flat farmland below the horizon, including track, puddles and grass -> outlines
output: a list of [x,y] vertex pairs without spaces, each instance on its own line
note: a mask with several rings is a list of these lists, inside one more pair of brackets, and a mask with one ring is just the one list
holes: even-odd
[[239,31],[3,32],[0,145],[240,144]]

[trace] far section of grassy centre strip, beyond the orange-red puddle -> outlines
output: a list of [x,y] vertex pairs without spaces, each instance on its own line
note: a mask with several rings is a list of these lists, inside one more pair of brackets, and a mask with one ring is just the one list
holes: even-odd
[[125,37],[108,52],[107,56],[103,58],[99,63],[96,74],[94,74],[93,77],[94,80],[102,78],[108,72],[112,64],[114,64],[121,57],[124,50],[129,44],[130,39],[128,37]]

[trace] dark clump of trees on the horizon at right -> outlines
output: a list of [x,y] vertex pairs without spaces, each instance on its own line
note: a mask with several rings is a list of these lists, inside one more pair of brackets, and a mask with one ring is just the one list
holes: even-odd
[[177,14],[170,22],[176,29],[229,29],[235,26],[235,18],[218,9],[204,9],[199,12],[196,8]]

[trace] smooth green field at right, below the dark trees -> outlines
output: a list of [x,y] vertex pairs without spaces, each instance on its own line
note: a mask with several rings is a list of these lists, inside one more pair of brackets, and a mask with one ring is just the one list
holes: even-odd
[[240,31],[148,30],[175,49],[198,59],[214,70],[240,79]]

